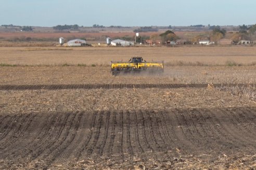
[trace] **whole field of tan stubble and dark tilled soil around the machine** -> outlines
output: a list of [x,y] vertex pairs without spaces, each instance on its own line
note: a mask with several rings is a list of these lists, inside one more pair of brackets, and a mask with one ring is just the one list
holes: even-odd
[[255,50],[0,47],[0,168],[255,169]]

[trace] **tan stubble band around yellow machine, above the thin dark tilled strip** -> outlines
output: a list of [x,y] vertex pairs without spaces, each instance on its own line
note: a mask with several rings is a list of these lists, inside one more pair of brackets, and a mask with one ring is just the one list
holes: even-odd
[[0,84],[165,84],[165,83],[254,83],[253,66],[174,66],[158,75],[112,76],[109,66],[17,66],[0,67]]

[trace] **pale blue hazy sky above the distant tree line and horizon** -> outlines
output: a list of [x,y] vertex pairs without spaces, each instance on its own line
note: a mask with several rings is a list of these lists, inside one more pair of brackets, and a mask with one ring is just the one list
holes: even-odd
[[0,0],[0,25],[187,26],[256,23],[255,0]]

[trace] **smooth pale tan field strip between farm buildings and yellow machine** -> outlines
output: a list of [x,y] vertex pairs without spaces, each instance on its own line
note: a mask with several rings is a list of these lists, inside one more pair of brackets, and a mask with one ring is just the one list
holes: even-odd
[[[128,61],[131,56],[143,56],[146,61],[164,61],[169,65],[226,65],[228,62],[256,62],[256,47],[0,47],[0,63],[16,65],[78,65]],[[180,63],[180,64],[179,64]]]

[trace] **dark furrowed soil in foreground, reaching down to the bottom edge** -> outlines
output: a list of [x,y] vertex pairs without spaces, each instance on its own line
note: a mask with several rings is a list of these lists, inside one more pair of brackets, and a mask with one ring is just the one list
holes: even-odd
[[[255,107],[5,114],[1,122],[2,169],[255,167]],[[244,162],[219,164],[245,153]]]

